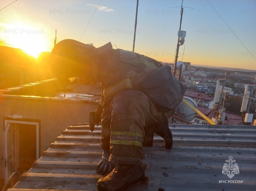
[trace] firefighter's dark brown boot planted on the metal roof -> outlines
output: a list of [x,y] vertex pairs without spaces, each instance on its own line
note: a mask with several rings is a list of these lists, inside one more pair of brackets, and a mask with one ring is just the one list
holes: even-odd
[[117,164],[111,173],[97,182],[98,191],[121,191],[131,183],[144,178],[141,162],[138,164]]

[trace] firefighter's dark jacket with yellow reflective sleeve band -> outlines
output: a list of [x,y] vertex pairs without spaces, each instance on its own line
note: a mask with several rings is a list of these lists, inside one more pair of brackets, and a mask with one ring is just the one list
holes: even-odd
[[135,52],[112,49],[110,42],[104,46],[104,51],[96,51],[95,62],[98,80],[104,87],[103,97],[106,103],[121,90],[138,90],[139,84],[161,65],[160,62]]

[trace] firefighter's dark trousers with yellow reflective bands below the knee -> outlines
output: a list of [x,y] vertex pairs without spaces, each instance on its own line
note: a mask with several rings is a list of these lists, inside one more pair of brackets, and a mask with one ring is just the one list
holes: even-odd
[[173,111],[159,111],[141,91],[122,90],[103,111],[101,148],[110,148],[110,162],[136,164],[141,159],[143,128],[162,122],[172,114]]

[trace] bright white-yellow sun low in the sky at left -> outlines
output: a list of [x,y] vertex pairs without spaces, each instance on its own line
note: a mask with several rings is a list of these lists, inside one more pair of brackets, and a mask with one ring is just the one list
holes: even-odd
[[43,29],[19,24],[9,26],[4,31],[5,43],[23,50],[26,54],[37,58],[42,52],[48,51]]

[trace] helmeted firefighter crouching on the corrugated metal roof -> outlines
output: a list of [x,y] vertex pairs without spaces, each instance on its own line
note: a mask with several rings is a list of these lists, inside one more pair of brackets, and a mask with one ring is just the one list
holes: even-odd
[[56,44],[51,60],[59,80],[89,74],[92,82],[101,83],[95,122],[101,121],[103,154],[96,170],[106,176],[98,180],[97,189],[120,191],[142,179],[143,142],[144,146],[152,145],[156,133],[165,139],[166,148],[172,148],[167,120],[174,109],[160,111],[140,90],[140,84],[161,64],[134,52],[113,49],[110,42],[95,48],[71,39]]

